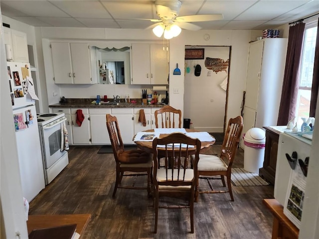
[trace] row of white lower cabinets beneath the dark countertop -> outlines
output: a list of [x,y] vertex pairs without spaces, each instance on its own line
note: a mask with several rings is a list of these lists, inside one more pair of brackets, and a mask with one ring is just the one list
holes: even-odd
[[[155,128],[154,113],[159,108],[51,108],[52,113],[64,113],[68,130],[69,144],[111,145],[106,127],[106,114],[118,119],[124,144],[134,144],[133,137],[137,132]],[[76,123],[77,110],[82,110],[84,120],[79,126]],[[146,126],[139,122],[140,110],[144,110]],[[160,119],[159,119],[160,120]]]

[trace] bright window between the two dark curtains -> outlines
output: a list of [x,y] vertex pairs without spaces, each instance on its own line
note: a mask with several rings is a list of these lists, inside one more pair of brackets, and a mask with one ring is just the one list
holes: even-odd
[[296,110],[298,119],[309,118],[311,88],[314,73],[317,24],[317,21],[311,22],[306,24],[305,28],[304,45],[302,50],[300,70],[300,82],[298,90],[298,102]]

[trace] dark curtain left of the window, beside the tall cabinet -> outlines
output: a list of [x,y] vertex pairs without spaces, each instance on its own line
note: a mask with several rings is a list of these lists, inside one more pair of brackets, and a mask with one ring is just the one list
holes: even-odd
[[286,67],[277,125],[286,125],[296,115],[300,59],[305,25],[302,22],[289,28]]

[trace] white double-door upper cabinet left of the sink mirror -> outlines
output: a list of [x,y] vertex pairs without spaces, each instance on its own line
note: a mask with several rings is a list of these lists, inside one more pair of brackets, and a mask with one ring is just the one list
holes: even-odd
[[52,42],[56,84],[92,84],[88,43]]

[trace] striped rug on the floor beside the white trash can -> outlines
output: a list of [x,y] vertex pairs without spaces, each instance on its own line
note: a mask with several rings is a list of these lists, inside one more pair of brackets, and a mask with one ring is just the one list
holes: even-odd
[[231,169],[231,182],[235,186],[264,186],[269,185],[258,173],[247,172],[244,168]]

